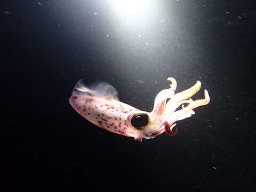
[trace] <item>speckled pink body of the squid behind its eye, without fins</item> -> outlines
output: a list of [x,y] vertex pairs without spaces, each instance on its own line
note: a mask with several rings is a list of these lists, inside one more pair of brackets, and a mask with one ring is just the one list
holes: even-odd
[[91,96],[86,98],[71,96],[69,102],[80,115],[102,129],[128,137],[131,136],[126,133],[131,132],[127,131],[131,129],[127,123],[127,117],[138,109],[114,99]]

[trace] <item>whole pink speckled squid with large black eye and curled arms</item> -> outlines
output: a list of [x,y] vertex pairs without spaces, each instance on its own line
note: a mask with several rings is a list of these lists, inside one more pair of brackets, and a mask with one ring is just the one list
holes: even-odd
[[[199,81],[189,89],[176,94],[176,80],[169,77],[167,81],[171,82],[170,88],[156,95],[151,112],[139,110],[119,101],[117,90],[105,82],[85,86],[82,80],[78,81],[69,103],[77,113],[91,123],[138,141],[142,141],[143,138],[153,139],[163,132],[175,135],[178,133],[177,127],[174,127],[175,122],[194,115],[193,109],[207,105],[210,96],[204,90],[204,99],[191,99],[201,89]],[[177,110],[179,107],[181,109]]]

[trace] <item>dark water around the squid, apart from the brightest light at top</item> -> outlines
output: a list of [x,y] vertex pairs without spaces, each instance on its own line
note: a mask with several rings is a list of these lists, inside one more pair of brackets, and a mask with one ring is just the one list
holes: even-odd
[[[153,2],[145,20],[132,20],[103,0],[1,1],[3,183],[27,191],[255,191],[253,1]],[[150,111],[167,77],[178,92],[199,80],[211,97],[178,122],[174,137],[137,142],[87,122],[68,103],[83,78],[109,82],[121,101]]]

